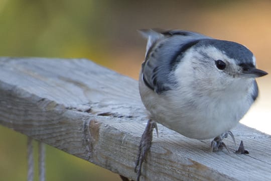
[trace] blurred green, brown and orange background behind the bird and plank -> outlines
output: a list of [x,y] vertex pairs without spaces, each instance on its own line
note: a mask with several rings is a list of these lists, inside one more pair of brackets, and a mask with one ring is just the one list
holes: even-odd
[[[270,73],[270,20],[271,1],[0,0],[0,56],[84,57],[137,79],[146,40],[136,30],[185,29],[244,44]],[[269,134],[270,81],[258,79],[259,99],[241,121]],[[0,180],[26,180],[26,142],[0,126]],[[120,180],[51,146],[46,153],[47,180]]]

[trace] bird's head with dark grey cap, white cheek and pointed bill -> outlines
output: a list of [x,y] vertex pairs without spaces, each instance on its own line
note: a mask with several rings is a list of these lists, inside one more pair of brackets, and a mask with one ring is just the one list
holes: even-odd
[[216,39],[196,41],[176,67],[177,77],[191,80],[187,82],[199,91],[248,89],[255,77],[266,74],[256,68],[255,57],[245,46]]

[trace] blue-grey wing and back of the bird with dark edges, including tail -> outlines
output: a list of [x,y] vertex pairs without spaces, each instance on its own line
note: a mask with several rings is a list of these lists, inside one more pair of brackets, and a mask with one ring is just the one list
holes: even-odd
[[202,39],[204,35],[181,30],[143,30],[148,37],[145,61],[142,64],[142,78],[145,84],[158,94],[176,85],[173,72],[184,52]]

